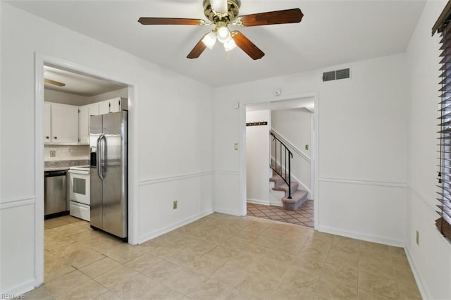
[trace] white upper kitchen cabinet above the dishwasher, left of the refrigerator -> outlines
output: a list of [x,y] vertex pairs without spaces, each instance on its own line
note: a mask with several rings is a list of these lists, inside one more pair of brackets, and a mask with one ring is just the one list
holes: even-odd
[[56,103],[45,104],[44,142],[78,144],[78,106]]

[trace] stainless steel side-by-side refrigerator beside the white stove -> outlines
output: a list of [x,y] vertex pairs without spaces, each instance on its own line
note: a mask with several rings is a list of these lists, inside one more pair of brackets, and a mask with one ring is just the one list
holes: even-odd
[[91,227],[128,237],[128,111],[90,117]]

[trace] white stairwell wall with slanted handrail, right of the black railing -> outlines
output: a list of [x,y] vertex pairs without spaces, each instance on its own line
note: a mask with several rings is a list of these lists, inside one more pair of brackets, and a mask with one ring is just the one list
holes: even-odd
[[[309,199],[312,199],[311,192],[313,192],[311,185],[312,118],[313,113],[306,108],[271,111],[271,127],[273,130],[276,130],[297,151],[304,154],[303,156],[299,155],[295,149],[290,149],[293,154],[291,172],[304,188],[309,189]],[[287,144],[289,148],[290,144]],[[309,146],[308,150],[305,149],[306,145]],[[302,189],[302,185],[299,186],[299,189]]]

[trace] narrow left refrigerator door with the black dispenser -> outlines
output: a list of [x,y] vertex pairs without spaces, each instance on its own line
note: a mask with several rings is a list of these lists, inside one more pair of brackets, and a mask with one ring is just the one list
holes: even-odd
[[[102,216],[103,216],[103,209],[102,209],[102,181],[98,175],[97,170],[97,141],[99,137],[101,136],[103,126],[102,126],[102,116],[101,115],[92,115],[90,120],[90,131],[89,131],[89,147],[91,154],[91,172],[89,173],[90,177],[90,219],[91,219],[91,226],[97,227],[99,229],[102,229]],[[93,155],[95,154],[95,155]]]

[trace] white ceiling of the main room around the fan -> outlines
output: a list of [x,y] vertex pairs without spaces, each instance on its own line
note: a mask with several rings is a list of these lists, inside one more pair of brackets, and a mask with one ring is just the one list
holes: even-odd
[[197,59],[187,54],[211,26],[140,25],[140,17],[205,19],[202,0],[8,1],[51,22],[185,74],[213,87],[327,68],[402,53],[424,0],[242,0],[240,15],[301,8],[301,23],[240,30],[266,54],[253,61],[220,44]]

